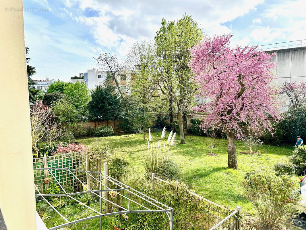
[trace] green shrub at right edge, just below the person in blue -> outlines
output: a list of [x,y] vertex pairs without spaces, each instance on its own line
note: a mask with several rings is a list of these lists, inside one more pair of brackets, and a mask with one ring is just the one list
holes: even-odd
[[304,174],[306,171],[306,145],[295,148],[293,155],[289,156],[289,161],[294,164],[296,174]]

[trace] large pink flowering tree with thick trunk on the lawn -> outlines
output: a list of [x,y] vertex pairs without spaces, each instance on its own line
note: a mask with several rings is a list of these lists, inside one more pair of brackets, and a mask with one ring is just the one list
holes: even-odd
[[201,128],[221,129],[228,140],[228,167],[237,169],[235,138],[242,140],[244,126],[260,133],[260,127],[272,132],[271,119],[277,121],[277,90],[270,85],[274,54],[257,47],[229,46],[232,35],[205,37],[191,49],[190,67],[200,93],[209,99],[194,108],[207,114]]

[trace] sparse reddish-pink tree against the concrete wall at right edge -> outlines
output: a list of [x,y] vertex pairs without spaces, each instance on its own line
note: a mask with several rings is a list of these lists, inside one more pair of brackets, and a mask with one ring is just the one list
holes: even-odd
[[281,86],[279,94],[286,95],[290,106],[296,107],[306,102],[306,82],[287,82]]

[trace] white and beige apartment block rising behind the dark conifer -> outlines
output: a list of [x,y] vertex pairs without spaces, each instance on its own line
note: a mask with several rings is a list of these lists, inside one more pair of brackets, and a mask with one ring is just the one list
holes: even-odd
[[[108,71],[99,71],[97,69],[87,70],[85,73],[79,73],[79,77],[84,78],[84,83],[86,83],[88,89],[95,89],[99,85],[103,85],[106,77],[108,75]],[[119,83],[120,89],[122,92],[129,93],[130,82],[132,79],[132,73],[129,71],[122,71],[117,74],[116,80]],[[115,84],[115,81],[113,81]]]

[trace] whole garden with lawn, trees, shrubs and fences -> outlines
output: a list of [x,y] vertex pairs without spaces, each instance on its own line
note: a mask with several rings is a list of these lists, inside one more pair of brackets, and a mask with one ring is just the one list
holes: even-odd
[[[186,14],[162,19],[154,42],[137,42],[124,62],[95,58],[107,70],[97,88],[29,91],[36,207],[48,228],[285,229],[306,171],[306,148],[293,147],[306,130],[305,83],[274,87],[274,54],[233,49],[231,37],[204,36]],[[191,113],[202,119],[188,124]],[[156,203],[173,209],[148,213]]]

